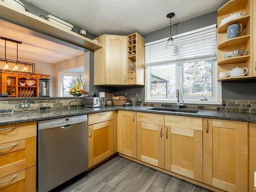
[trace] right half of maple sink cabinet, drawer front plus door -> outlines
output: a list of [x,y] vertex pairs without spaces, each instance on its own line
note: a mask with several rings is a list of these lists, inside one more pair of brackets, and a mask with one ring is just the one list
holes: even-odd
[[165,115],[164,168],[203,181],[202,118]]

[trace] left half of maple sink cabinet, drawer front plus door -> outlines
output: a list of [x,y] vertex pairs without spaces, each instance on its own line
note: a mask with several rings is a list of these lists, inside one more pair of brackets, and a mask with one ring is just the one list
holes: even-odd
[[137,113],[137,159],[164,167],[164,115]]

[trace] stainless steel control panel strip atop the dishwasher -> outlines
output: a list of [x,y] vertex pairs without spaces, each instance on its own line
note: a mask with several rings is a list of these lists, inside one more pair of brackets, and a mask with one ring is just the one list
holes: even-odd
[[87,121],[87,115],[79,115],[79,116],[72,116],[72,117],[64,117],[59,119],[50,119],[38,122],[38,130],[49,129],[52,127],[57,126],[64,126],[69,124],[75,124]]

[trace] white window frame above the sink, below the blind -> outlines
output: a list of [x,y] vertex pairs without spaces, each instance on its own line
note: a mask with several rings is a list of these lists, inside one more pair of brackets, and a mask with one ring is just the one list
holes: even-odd
[[[221,104],[221,82],[217,81],[217,59],[214,58],[198,58],[196,60],[212,61],[212,97],[208,100],[200,100],[201,97],[183,97],[183,65],[178,65],[178,75],[176,75],[176,85],[180,90],[180,102],[182,100],[187,104]],[[192,60],[193,61],[193,60]],[[187,62],[187,61],[185,61]],[[169,64],[172,65],[172,64]],[[177,71],[177,70],[176,70]],[[181,77],[181,78],[180,78]],[[145,101],[161,102],[161,103],[177,103],[177,98],[151,98],[151,67],[145,68]]]

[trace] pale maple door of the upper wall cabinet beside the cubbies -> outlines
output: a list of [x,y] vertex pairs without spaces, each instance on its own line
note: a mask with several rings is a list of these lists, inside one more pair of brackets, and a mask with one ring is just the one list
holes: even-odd
[[126,38],[106,35],[105,84],[127,84]]

